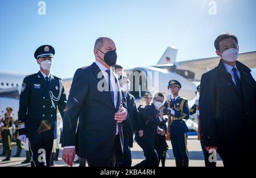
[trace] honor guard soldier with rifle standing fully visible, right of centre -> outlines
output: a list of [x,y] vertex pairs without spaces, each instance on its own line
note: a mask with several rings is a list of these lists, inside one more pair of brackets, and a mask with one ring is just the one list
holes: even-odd
[[164,107],[168,109],[168,115],[171,115],[168,128],[176,166],[188,167],[187,132],[189,130],[183,119],[187,120],[189,118],[189,109],[188,100],[179,96],[180,88],[180,82],[170,80],[168,89],[171,90],[173,98],[167,100]]

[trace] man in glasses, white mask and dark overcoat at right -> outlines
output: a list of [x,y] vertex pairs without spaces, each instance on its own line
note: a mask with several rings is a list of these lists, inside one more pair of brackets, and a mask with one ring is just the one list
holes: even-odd
[[238,40],[225,33],[214,42],[220,63],[201,78],[201,136],[217,150],[224,166],[252,166],[256,133],[256,84],[250,69],[237,61]]

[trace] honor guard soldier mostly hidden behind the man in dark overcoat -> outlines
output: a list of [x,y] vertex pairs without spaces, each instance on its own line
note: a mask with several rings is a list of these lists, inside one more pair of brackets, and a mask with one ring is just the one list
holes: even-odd
[[[199,92],[200,95],[200,85],[197,86],[197,92]],[[201,132],[200,132],[200,112],[199,112],[199,100],[195,101],[195,104],[191,107],[191,109],[189,109],[189,115],[194,115],[196,113],[197,116],[197,123],[198,123],[198,129],[197,129],[197,139],[200,140],[201,143],[201,147],[204,153],[204,163],[205,163],[205,167],[216,167],[216,162],[209,162],[209,156],[211,154],[209,154],[209,152],[205,149],[205,144],[204,144],[204,140],[201,138]]]

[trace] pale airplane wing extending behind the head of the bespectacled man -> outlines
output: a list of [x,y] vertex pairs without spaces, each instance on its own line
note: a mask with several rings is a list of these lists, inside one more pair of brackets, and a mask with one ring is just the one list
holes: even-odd
[[[256,52],[240,53],[238,61],[247,67],[256,67]],[[203,58],[199,60],[182,61],[174,63],[177,69],[190,70],[195,73],[196,81],[201,80],[201,76],[209,70],[212,70],[220,62],[220,57]]]

